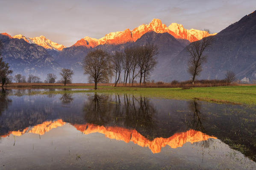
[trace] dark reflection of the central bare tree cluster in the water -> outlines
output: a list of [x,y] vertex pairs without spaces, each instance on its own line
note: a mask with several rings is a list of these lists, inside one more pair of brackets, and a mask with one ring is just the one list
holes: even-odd
[[116,94],[112,99],[110,96],[94,94],[85,103],[84,112],[87,122],[136,128],[150,134],[156,110],[145,97],[136,98],[127,94],[122,97]]

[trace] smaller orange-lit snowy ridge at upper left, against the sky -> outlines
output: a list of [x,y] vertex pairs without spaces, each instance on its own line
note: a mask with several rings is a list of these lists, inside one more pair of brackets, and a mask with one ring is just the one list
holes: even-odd
[[28,37],[25,37],[24,35],[18,34],[13,36],[12,38],[23,39],[29,44],[37,44],[46,49],[62,50],[63,48],[66,48],[64,45],[58,44],[56,42],[52,42],[51,40],[45,38],[42,35],[40,37],[28,38]]

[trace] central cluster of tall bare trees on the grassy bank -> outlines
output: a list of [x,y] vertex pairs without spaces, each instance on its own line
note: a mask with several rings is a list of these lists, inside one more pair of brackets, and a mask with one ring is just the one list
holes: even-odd
[[123,85],[133,85],[136,77],[139,77],[140,85],[146,82],[150,72],[156,67],[156,55],[158,48],[153,44],[143,46],[127,47],[124,51],[115,51],[112,55],[101,49],[90,51],[82,62],[84,74],[89,75],[89,81],[94,82],[94,89],[97,83],[109,82],[115,74],[115,86],[121,80],[121,73],[124,74]]

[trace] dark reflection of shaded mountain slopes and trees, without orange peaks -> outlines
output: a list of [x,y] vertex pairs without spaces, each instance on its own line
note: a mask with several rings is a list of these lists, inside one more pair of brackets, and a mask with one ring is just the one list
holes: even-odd
[[[25,92],[24,92],[25,93]],[[30,92],[33,94],[33,92]],[[254,108],[198,101],[148,99],[132,95],[70,94],[22,96],[12,91],[12,105],[1,108],[0,135],[45,121],[136,130],[148,140],[169,138],[190,129],[216,136],[232,148],[250,156],[256,154]],[[64,100],[62,99],[70,99]],[[68,102],[65,102],[68,101]],[[72,101],[72,102],[70,102]]]

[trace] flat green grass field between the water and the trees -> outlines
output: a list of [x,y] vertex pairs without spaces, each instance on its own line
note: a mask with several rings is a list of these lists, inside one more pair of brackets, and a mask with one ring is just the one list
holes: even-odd
[[[56,88],[56,87],[53,87]],[[62,87],[63,88],[63,87]],[[74,87],[66,87],[74,88]],[[93,88],[93,86],[79,86],[76,88]],[[182,90],[181,88],[123,88],[99,86],[97,90],[90,91],[50,91],[48,93],[108,93],[108,94],[134,94],[147,97],[157,97],[165,99],[198,99],[207,102],[247,104],[256,105],[256,86],[225,86],[225,87],[206,87],[191,88]]]

